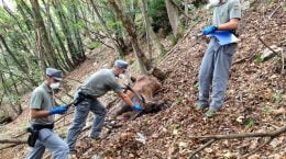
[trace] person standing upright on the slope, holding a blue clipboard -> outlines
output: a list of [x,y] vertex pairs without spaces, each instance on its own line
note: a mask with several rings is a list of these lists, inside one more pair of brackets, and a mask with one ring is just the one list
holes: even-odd
[[[212,25],[202,30],[204,35],[216,31],[229,31],[235,33],[241,19],[240,0],[209,0],[215,7]],[[220,45],[216,37],[211,37],[210,44],[204,55],[199,70],[199,102],[196,110],[205,110],[206,117],[212,117],[222,106],[227,89],[229,70],[237,44]],[[212,83],[211,102],[209,104],[210,86]]]

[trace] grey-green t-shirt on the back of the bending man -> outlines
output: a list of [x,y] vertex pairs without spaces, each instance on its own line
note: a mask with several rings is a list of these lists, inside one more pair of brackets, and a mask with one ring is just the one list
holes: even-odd
[[95,98],[99,98],[111,90],[114,92],[121,92],[122,88],[117,82],[113,70],[101,69],[88,78],[88,80],[79,88],[78,91]]

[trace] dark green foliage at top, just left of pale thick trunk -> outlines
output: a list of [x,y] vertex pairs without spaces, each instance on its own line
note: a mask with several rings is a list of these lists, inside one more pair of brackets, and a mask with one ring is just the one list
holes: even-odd
[[148,15],[153,20],[152,26],[155,32],[157,32],[158,29],[170,31],[168,13],[164,0],[148,1]]

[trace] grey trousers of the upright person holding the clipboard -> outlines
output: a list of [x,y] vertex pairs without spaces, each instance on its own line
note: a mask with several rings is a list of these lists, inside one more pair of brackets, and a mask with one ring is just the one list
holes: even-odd
[[[237,44],[220,46],[218,39],[211,38],[204,55],[199,71],[199,103],[219,110],[224,100],[229,70]],[[209,104],[210,86],[212,83],[211,103]]]

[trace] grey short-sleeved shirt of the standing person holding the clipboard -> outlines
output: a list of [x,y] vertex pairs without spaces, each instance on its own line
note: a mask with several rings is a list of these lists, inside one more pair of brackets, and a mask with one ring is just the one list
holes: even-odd
[[224,3],[215,8],[212,25],[228,23],[231,19],[241,19],[240,0],[227,0]]

